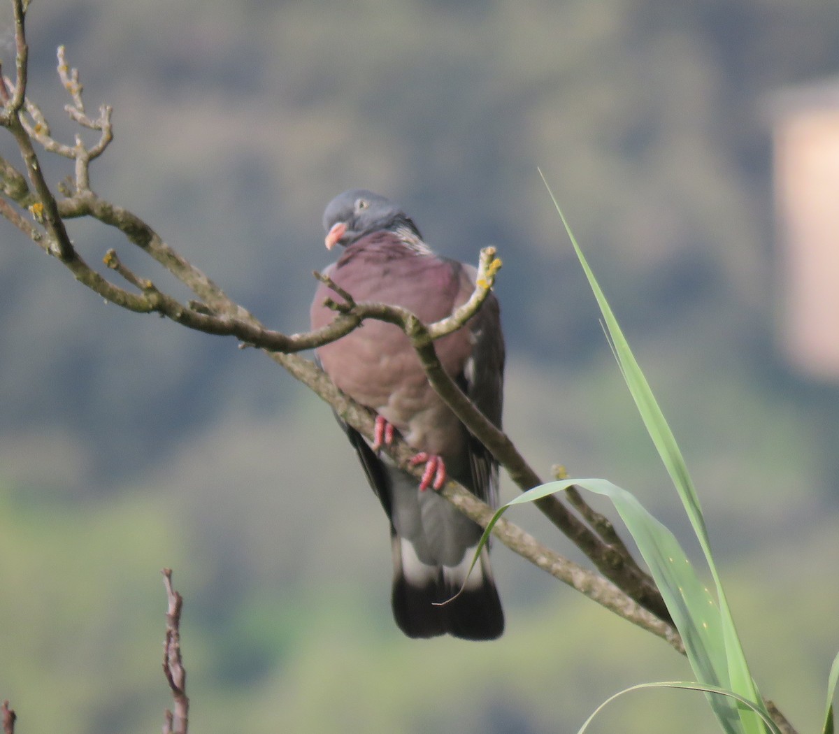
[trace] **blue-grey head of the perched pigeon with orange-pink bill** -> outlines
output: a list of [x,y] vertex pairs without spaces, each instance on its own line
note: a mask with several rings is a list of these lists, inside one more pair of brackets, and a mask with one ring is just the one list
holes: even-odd
[[399,206],[384,196],[364,189],[352,189],[337,195],[323,213],[328,250],[336,245],[352,245],[370,232],[396,229],[398,226],[408,226],[420,237],[414,222],[409,220]]

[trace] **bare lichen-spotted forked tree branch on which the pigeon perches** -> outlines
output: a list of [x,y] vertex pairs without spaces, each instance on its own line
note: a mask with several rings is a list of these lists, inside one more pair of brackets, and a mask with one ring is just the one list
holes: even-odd
[[[76,70],[68,70],[63,51],[59,55],[59,74],[74,99],[74,106],[71,109],[76,110],[77,116],[83,115],[84,105],[81,101],[81,85],[78,82],[78,73]],[[529,489],[529,487],[534,487],[541,483],[539,476],[530,469],[526,461],[524,461],[524,458],[515,449],[512,441],[487,421],[475,409],[471,401],[461,392],[460,388],[451,380],[451,377],[448,376],[440,365],[433,344],[435,337],[443,336],[446,333],[461,328],[466,323],[466,320],[474,315],[482,304],[483,299],[486,299],[487,294],[492,289],[495,275],[498,273],[498,268],[500,268],[501,264],[498,258],[495,257],[494,248],[486,248],[482,252],[477,287],[472,297],[456,310],[454,314],[446,317],[446,319],[441,320],[437,324],[424,325],[413,314],[404,309],[385,304],[356,303],[352,300],[350,294],[338,293],[339,296],[343,296],[343,303],[335,304],[336,311],[338,311],[336,319],[323,329],[291,336],[286,336],[276,331],[269,331],[252,314],[243,309],[242,306],[235,304],[231,299],[227,298],[227,295],[211,279],[207,278],[204,273],[201,273],[191,263],[180,257],[174,249],[169,247],[138,216],[133,215],[133,213],[122,207],[114,206],[96,195],[90,188],[87,169],[90,163],[90,155],[85,152],[84,147],[81,144],[76,144],[73,147],[62,147],[60,143],[50,137],[49,125],[38,108],[29,104],[29,110],[32,111],[34,120],[36,121],[34,127],[29,126],[29,128],[33,131],[34,128],[39,128],[36,138],[39,144],[55,149],[60,154],[67,155],[76,160],[75,193],[61,200],[59,204],[48,190],[48,200],[44,201],[40,195],[40,190],[45,188],[46,184],[43,176],[40,175],[37,159],[34,158],[32,139],[18,115],[12,115],[9,118],[8,126],[13,134],[15,134],[16,139],[18,139],[24,160],[28,162],[27,170],[29,178],[35,190],[38,192],[39,201],[34,205],[29,205],[30,211],[34,209],[36,221],[43,221],[46,228],[47,237],[40,237],[36,242],[41,247],[44,247],[47,252],[57,255],[81,283],[94,290],[102,298],[108,299],[128,310],[142,313],[157,312],[192,329],[206,331],[212,334],[236,336],[240,341],[258,346],[264,351],[267,351],[276,362],[283,365],[294,377],[297,377],[315,390],[321,398],[324,398],[338,411],[343,419],[347,420],[347,423],[353,425],[354,428],[360,430],[362,434],[367,436],[371,436],[373,432],[373,419],[370,411],[356,403],[352,403],[352,400],[349,400],[347,396],[342,395],[336,390],[326,374],[321,372],[311,362],[297,357],[292,352],[321,346],[329,341],[334,341],[346,335],[352,329],[357,328],[365,319],[386,320],[399,325],[413,341],[414,347],[420,355],[423,367],[429,376],[430,383],[451,404],[452,409],[455,410],[458,417],[463,420],[472,433],[479,440],[484,441],[489,450],[492,451],[498,461],[507,469],[519,487]],[[101,127],[103,129],[108,128],[109,130],[108,120],[109,116],[103,112],[101,120]],[[102,138],[102,140],[104,139]],[[31,151],[31,154],[29,154],[29,151]],[[34,160],[35,164],[29,164],[30,160]],[[4,177],[6,190],[9,191],[10,195],[15,196],[14,200],[18,204],[29,200],[28,188],[20,185],[20,177],[15,175],[13,167],[7,164],[5,169],[10,171]],[[3,169],[0,168],[0,174],[2,173]],[[43,209],[36,208],[39,204],[42,204]],[[50,221],[48,214],[50,210],[56,212],[55,222]],[[0,214],[3,214],[3,211],[0,211]],[[62,216],[92,216],[108,226],[114,226],[119,229],[131,242],[143,249],[144,252],[147,252],[190,288],[201,299],[201,310],[190,307],[190,305],[181,304],[177,299],[160,291],[149,279],[142,279],[134,273],[131,273],[128,268],[122,265],[116,252],[113,251],[109,252],[106,256],[108,267],[118,273],[133,288],[138,289],[140,293],[137,294],[120,288],[103,278],[102,275],[96,273],[95,270],[84,262],[66,237],[64,224],[61,219]],[[34,226],[24,226],[19,216],[14,217],[14,220],[17,221],[18,226],[23,231],[35,239],[35,235],[39,233],[37,228]],[[55,246],[56,243],[62,242],[63,246]],[[396,448],[393,449],[393,454],[398,454]],[[420,471],[409,465],[408,461],[411,458],[410,456],[403,455],[399,457],[397,455],[396,457],[398,459],[401,458],[401,463],[406,470]],[[459,488],[458,492],[467,493],[462,487]],[[477,499],[474,501],[477,502]],[[660,596],[655,590],[652,581],[638,568],[638,565],[625,549],[622,551],[621,547],[604,542],[595,532],[592,532],[591,528],[587,527],[585,523],[582,523],[571,514],[555,497],[547,497],[540,501],[539,508],[591,557],[602,573],[607,575],[608,578],[611,578],[624,591],[630,591],[634,596],[634,601],[638,601],[642,606],[651,608],[664,622],[670,621],[664,603],[660,600]],[[477,514],[480,515],[481,513]],[[486,523],[486,519],[483,522]],[[502,542],[507,542],[504,539],[505,528],[512,527],[511,523],[503,523],[501,527],[496,528],[495,532],[499,539],[502,539]],[[519,543],[517,547],[518,552],[524,552],[527,549],[529,559],[534,562],[534,559],[537,557],[550,557],[548,549],[538,545]],[[570,561],[566,561],[566,564],[570,563]],[[545,567],[558,568],[561,565],[548,564]],[[591,578],[589,578],[589,575]],[[573,573],[565,574],[563,580],[586,593],[585,590],[590,591],[597,586],[597,583],[594,581],[595,578],[596,575],[592,575],[591,571],[577,567]],[[622,601],[621,603],[607,601],[602,594],[598,598],[601,603],[607,603],[607,606],[616,611],[618,609],[631,610],[633,608],[633,604],[626,603],[626,601]],[[640,623],[644,627],[649,627],[649,620],[644,621],[634,612],[631,613],[634,622]]]

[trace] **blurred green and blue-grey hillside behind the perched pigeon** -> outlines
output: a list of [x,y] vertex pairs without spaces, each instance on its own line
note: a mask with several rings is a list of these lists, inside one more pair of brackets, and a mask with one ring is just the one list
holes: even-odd
[[[453,257],[496,245],[510,435],[543,476],[606,476],[689,543],[540,166],[685,451],[763,694],[815,731],[839,647],[839,394],[780,347],[771,101],[836,75],[835,3],[38,0],[29,39],[57,136],[75,132],[59,44],[91,110],[115,108],[94,188],[274,328],[307,326],[341,190],[398,200]],[[88,262],[122,246],[70,232]],[[402,638],[386,521],[324,404],[0,237],[0,699],[21,731],[157,731],[164,565],[195,731],[576,731],[626,685],[690,678],[501,546],[501,641]],[[705,708],[635,694],[597,731],[716,731]]]

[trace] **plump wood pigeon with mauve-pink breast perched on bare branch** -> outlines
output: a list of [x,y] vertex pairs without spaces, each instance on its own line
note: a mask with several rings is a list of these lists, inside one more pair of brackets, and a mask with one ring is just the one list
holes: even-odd
[[[323,223],[326,247],[343,248],[325,274],[357,302],[403,306],[431,323],[450,315],[475,288],[476,268],[435,254],[414,222],[383,196],[345,191],[326,207]],[[324,305],[330,297],[340,300],[320,284],[311,307],[313,329],[334,319]],[[435,348],[446,371],[500,428],[504,343],[495,297],[490,294],[472,320],[435,341]],[[366,320],[316,355],[341,391],[378,415],[372,444],[342,425],[390,520],[397,624],[411,638],[446,632],[472,640],[498,638],[504,617],[486,548],[466,579],[482,528],[444,497],[426,491],[440,489],[451,476],[494,507],[497,462],[430,387],[398,326]],[[425,463],[422,480],[379,453],[393,440],[394,429],[418,451],[414,463]],[[456,599],[444,606],[432,603],[450,599],[464,581]]]

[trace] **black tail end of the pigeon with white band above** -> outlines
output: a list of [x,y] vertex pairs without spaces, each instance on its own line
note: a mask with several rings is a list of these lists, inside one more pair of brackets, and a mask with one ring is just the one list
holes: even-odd
[[456,566],[422,563],[407,541],[393,535],[393,617],[409,638],[451,634],[494,640],[504,631],[504,612],[492,580],[487,549],[468,574],[475,549]]

